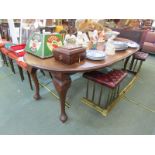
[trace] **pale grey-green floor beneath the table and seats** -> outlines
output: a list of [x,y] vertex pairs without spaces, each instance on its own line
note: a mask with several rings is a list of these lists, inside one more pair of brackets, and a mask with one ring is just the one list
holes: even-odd
[[[68,92],[68,121],[59,121],[59,101],[41,87],[42,99],[35,101],[27,76],[21,82],[19,74],[10,68],[0,68],[0,134],[155,134],[155,56],[150,55],[142,66],[134,87],[103,117],[80,99],[85,94],[85,79],[72,77]],[[16,68],[16,71],[17,68]],[[48,76],[38,73],[40,83],[55,91]]]

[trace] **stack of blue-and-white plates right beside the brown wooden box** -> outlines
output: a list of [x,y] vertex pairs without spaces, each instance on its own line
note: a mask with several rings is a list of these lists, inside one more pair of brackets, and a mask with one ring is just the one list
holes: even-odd
[[106,53],[99,50],[87,50],[86,57],[90,60],[103,60],[105,59]]

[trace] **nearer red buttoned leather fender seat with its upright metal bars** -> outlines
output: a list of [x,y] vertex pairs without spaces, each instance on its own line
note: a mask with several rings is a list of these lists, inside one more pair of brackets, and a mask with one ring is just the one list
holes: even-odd
[[[123,79],[127,76],[126,71],[122,70],[113,70],[108,73],[102,73],[99,71],[92,71],[88,73],[84,73],[83,77],[85,77],[87,81],[87,90],[86,90],[86,99],[89,101],[95,103],[99,107],[103,109],[107,109],[108,106],[110,105],[111,101],[114,100],[116,97],[119,95],[119,88],[120,84],[123,81]],[[89,98],[89,81],[93,81],[93,92],[92,92],[92,97]],[[98,83],[101,85],[101,90],[98,98],[98,102],[96,103],[94,101],[95,99],[95,84]],[[106,104],[103,106],[101,105],[101,98],[102,98],[102,85],[105,87],[108,87],[110,89]]]

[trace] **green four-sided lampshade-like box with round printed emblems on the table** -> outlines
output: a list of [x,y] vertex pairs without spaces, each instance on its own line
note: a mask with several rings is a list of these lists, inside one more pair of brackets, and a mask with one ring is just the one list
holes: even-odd
[[53,56],[53,49],[63,45],[63,39],[59,33],[33,33],[25,47],[25,51],[40,58]]

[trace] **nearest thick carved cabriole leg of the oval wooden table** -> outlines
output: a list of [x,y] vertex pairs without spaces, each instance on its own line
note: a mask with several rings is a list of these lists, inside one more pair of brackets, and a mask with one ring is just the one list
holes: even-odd
[[65,100],[68,88],[71,84],[71,78],[69,74],[65,74],[62,72],[51,72],[53,77],[54,86],[60,97],[61,104],[61,114],[60,120],[64,123],[67,121],[67,114],[65,112]]

